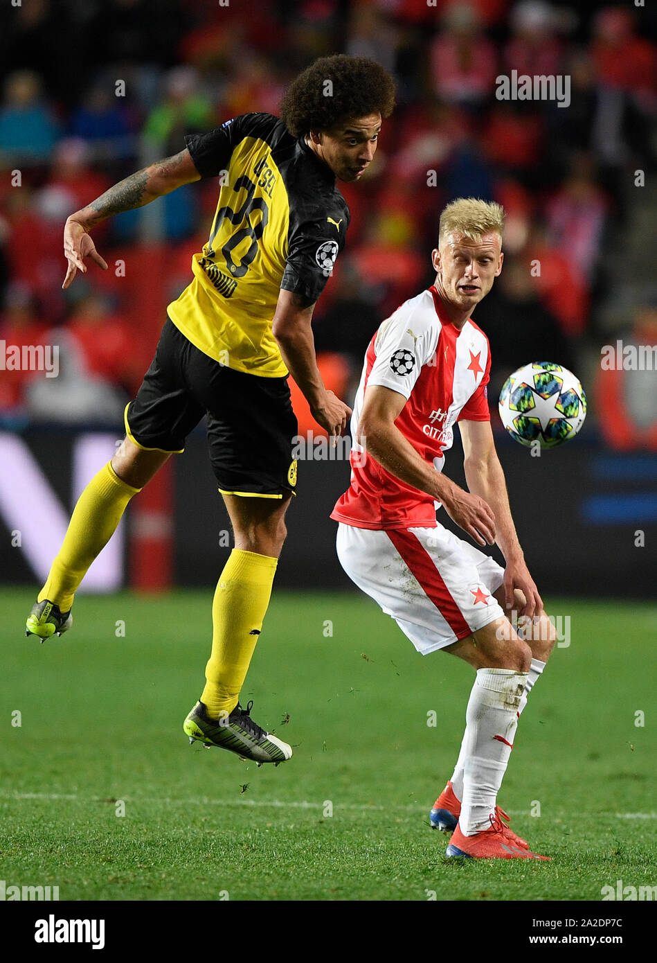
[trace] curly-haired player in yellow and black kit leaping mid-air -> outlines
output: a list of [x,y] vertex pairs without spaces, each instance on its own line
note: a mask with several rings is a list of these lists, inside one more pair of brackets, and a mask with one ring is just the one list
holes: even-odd
[[390,74],[365,58],[317,60],[286,92],[281,117],[246,114],[189,136],[179,154],[114,185],[64,227],[67,288],[87,262],[103,270],[89,230],[202,177],[218,177],[210,237],[193,278],[168,305],[153,362],[125,411],[126,437],[73,511],[27,634],[62,634],[75,591],[133,496],[207,415],[210,455],[235,548],[213,603],[206,685],[185,720],[200,740],[279,763],[291,747],[251,719],[239,696],[263,627],[285,513],[296,486],[290,373],[317,423],[345,429],[349,407],[316,366],[313,308],[344,244],[349,211],[336,178],[357,181],[394,104]]

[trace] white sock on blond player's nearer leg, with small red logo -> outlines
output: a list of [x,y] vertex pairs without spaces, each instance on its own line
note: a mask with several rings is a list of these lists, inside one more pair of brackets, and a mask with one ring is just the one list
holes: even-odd
[[459,826],[464,836],[491,828],[518,726],[527,672],[480,668],[467,702],[466,759]]

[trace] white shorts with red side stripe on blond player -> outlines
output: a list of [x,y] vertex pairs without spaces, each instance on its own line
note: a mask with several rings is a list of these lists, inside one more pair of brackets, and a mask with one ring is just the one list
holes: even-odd
[[340,522],[337,549],[351,581],[392,616],[422,655],[504,615],[493,596],[504,569],[440,524],[382,531]]

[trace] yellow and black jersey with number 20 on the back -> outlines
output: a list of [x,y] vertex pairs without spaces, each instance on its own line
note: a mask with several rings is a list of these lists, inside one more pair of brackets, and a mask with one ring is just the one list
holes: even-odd
[[220,191],[208,242],[169,318],[221,364],[285,377],[271,322],[281,288],[319,297],[344,245],[349,209],[335,174],[270,114],[235,117],[185,143]]

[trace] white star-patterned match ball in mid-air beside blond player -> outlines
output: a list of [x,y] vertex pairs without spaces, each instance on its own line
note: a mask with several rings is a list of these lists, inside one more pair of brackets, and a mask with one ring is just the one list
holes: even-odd
[[532,361],[504,382],[499,396],[502,425],[521,445],[555,448],[574,438],[586,417],[586,395],[560,364]]

